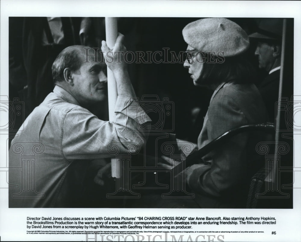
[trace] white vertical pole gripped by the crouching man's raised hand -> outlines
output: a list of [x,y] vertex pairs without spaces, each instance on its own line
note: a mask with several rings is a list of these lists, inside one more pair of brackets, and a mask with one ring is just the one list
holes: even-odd
[[[116,38],[118,35],[117,32],[117,18],[116,17],[106,17],[106,42],[107,46],[110,49],[113,49]],[[109,103],[109,120],[110,122],[115,121],[115,104],[117,100],[117,86],[116,81],[113,75],[113,72],[107,67],[107,73],[108,73],[108,103]],[[116,158],[112,158],[111,160],[112,164],[112,177],[119,178],[119,174],[117,174],[117,163]]]

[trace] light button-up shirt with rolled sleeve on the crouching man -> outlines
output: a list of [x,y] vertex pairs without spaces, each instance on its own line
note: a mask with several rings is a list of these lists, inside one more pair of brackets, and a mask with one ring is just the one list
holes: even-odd
[[[56,86],[26,118],[23,130],[11,142],[9,181],[19,187],[9,189],[9,207],[53,207],[73,161],[114,157],[108,150],[111,143],[116,143],[120,154],[126,154],[132,142],[143,146],[147,134],[140,125],[151,119],[138,103],[118,96],[115,115],[114,123],[100,120]],[[29,171],[12,172],[16,167]],[[21,188],[33,190],[34,197],[28,198],[28,191],[21,193],[27,198],[16,195]]]

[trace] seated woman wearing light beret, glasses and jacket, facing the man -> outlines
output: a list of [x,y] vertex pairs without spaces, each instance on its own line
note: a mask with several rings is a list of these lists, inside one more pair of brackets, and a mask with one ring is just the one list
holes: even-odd
[[[226,131],[244,124],[266,122],[266,110],[243,57],[249,39],[243,29],[225,18],[206,18],[183,29],[188,44],[184,67],[195,86],[214,90],[198,137],[202,148]],[[186,168],[186,182],[202,208],[245,207],[251,176],[264,164],[256,144],[259,133],[241,133]],[[259,162],[261,159],[261,162]]]

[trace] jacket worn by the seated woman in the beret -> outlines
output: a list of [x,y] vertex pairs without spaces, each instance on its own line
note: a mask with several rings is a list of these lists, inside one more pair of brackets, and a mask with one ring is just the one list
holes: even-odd
[[[243,124],[266,121],[266,110],[254,84],[220,85],[211,98],[198,138],[202,148],[226,131]],[[203,157],[193,166],[188,185],[200,207],[244,207],[251,176],[264,165],[256,144],[260,133],[241,133]]]

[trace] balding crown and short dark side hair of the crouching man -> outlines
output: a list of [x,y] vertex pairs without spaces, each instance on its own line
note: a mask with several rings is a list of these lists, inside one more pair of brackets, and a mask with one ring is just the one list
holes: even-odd
[[85,61],[85,49],[90,48],[83,45],[68,46],[58,54],[52,64],[52,77],[54,84],[64,81],[64,69],[70,68],[72,71],[77,71]]

